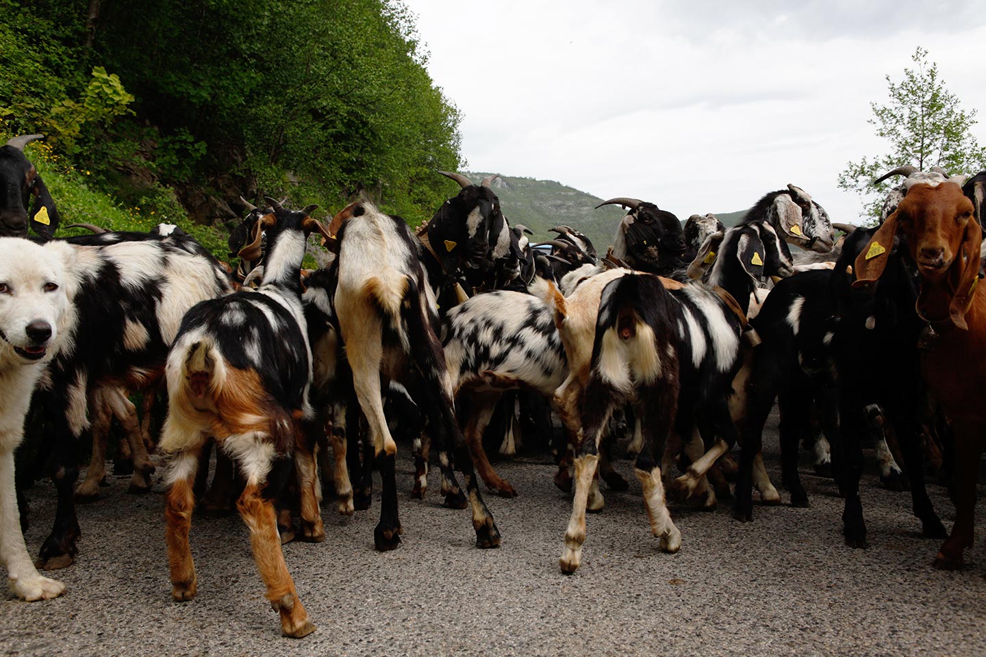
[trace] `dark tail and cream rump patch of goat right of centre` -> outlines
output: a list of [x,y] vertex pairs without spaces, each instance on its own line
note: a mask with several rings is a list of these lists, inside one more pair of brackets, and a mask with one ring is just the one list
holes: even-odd
[[[651,277],[624,276],[609,283],[599,301],[593,368],[623,391],[662,376],[663,362],[654,328],[647,321],[655,293],[667,294]],[[650,288],[651,290],[643,290]],[[660,288],[660,290],[659,290]]]

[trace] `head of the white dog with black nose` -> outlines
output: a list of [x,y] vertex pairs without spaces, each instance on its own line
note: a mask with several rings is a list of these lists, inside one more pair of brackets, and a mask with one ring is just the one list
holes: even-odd
[[68,310],[67,277],[74,262],[68,243],[0,237],[0,361],[47,356]]

